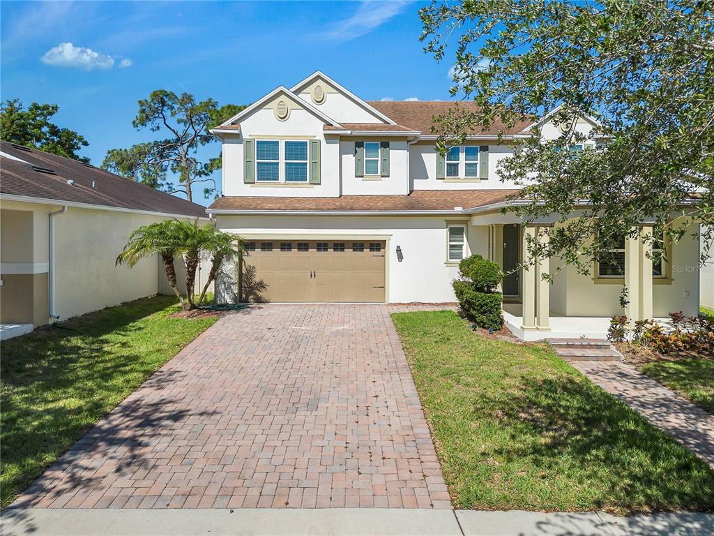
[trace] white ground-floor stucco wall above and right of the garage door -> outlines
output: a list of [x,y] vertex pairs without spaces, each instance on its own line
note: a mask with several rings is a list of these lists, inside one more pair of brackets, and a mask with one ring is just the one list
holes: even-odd
[[[451,217],[333,217],[333,216],[218,216],[218,227],[248,238],[261,235],[300,237],[301,235],[350,236],[389,235],[386,252],[387,301],[455,302],[451,282],[458,267],[446,263],[446,222]],[[461,218],[464,224],[468,219]],[[468,226],[469,253],[487,254],[488,231]],[[259,239],[259,238],[258,238]],[[400,246],[403,261],[398,262]],[[478,249],[478,251],[476,250]]]

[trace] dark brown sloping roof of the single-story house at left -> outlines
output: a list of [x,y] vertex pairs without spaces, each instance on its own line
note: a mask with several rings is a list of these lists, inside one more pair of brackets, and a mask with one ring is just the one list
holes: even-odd
[[[122,209],[206,217],[206,207],[93,166],[37,149],[0,142],[0,193]],[[41,172],[40,167],[54,172]],[[67,184],[73,180],[74,184]],[[94,187],[92,187],[94,182]]]

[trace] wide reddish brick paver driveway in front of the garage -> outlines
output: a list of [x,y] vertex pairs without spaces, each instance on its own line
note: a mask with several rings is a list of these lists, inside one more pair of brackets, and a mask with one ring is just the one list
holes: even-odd
[[16,504],[451,507],[383,305],[235,312],[171,359]]

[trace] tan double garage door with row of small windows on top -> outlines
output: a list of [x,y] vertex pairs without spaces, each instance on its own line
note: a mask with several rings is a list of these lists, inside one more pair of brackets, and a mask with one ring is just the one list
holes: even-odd
[[385,242],[248,242],[245,262],[269,302],[384,302]]

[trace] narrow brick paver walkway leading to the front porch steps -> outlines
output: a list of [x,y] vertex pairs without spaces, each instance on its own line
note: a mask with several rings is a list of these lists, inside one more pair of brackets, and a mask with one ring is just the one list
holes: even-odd
[[678,439],[714,469],[714,415],[629,364],[593,361],[570,364]]

